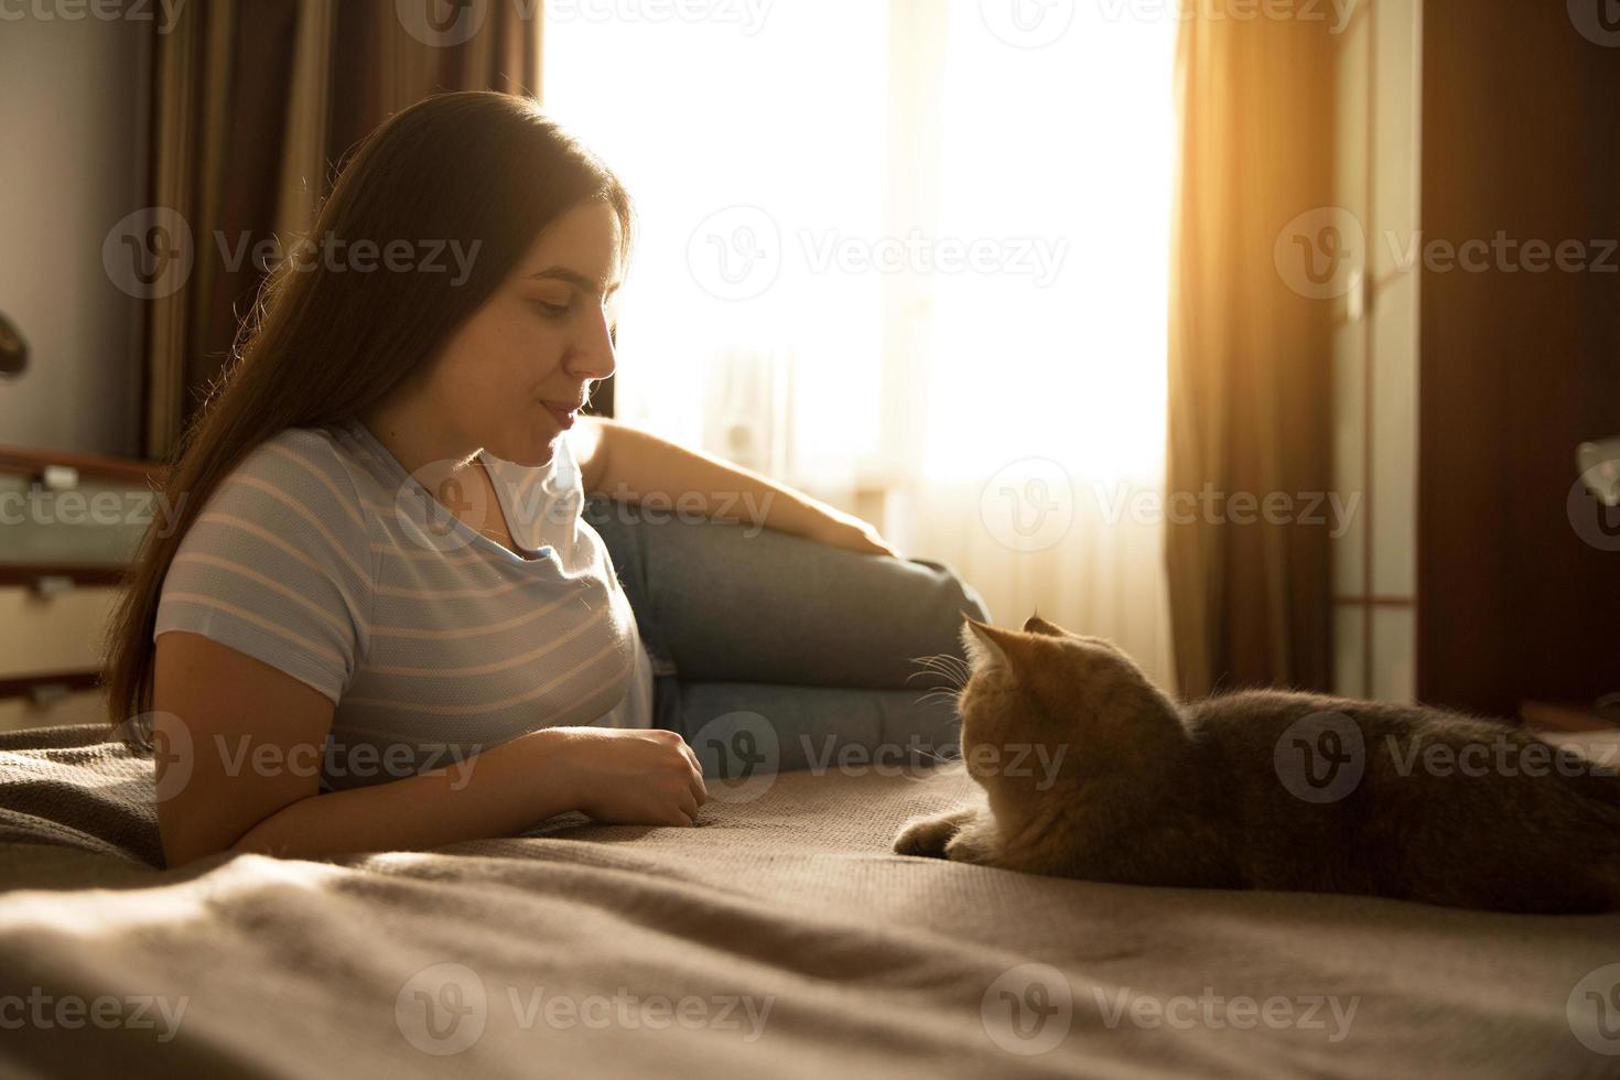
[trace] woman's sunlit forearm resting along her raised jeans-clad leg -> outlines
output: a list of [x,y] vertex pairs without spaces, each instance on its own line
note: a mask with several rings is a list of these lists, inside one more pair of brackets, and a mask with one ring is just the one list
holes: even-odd
[[585,494],[763,526],[834,547],[899,557],[860,518],[768,476],[599,416],[580,418]]

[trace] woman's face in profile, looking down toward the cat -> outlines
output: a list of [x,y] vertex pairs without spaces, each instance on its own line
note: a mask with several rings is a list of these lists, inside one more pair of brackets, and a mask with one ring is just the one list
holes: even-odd
[[585,202],[546,228],[450,337],[423,402],[458,445],[541,466],[591,384],[614,372],[619,215]]

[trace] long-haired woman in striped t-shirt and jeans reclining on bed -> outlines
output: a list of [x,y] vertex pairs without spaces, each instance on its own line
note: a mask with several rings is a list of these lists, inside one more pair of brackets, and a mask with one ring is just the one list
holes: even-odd
[[693,824],[688,740],[735,774],[825,763],[826,735],[948,737],[906,680],[987,617],[949,570],[580,415],[630,223],[614,175],[501,94],[424,100],[345,168],[314,235],[353,266],[275,269],[113,622],[112,721],[162,750],[170,865],[567,810]]

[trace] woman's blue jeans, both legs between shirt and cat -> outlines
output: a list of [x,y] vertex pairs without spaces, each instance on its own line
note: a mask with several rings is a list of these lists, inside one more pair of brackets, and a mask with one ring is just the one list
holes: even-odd
[[653,724],[705,776],[914,766],[954,756],[961,717],[919,657],[962,656],[988,620],[949,567],[593,497],[648,656]]

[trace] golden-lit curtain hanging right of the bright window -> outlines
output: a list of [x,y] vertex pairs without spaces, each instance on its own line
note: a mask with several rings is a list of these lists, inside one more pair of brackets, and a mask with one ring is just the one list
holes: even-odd
[[1171,513],[1166,534],[1181,691],[1327,688],[1327,526],[1239,525],[1243,505],[1186,500],[1332,486],[1333,311],[1294,291],[1273,251],[1291,220],[1333,202],[1333,40],[1244,0],[1184,6],[1166,486],[1210,510]]

